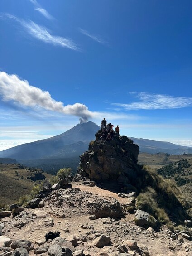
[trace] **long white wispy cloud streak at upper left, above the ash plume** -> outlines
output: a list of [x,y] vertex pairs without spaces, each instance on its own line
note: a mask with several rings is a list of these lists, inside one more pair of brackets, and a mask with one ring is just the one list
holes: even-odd
[[23,19],[19,19],[11,14],[1,14],[1,19],[9,18],[14,19],[18,22],[24,29],[25,32],[30,34],[32,37],[43,41],[44,43],[50,43],[54,46],[62,46],[64,48],[69,48],[72,50],[79,50],[77,45],[71,40],[61,36],[52,35],[47,28],[43,26],[39,26],[33,21],[25,21]]

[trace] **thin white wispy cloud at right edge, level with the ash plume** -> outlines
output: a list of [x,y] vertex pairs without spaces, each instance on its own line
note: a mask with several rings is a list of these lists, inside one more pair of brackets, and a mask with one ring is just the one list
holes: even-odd
[[146,92],[131,92],[131,94],[139,98],[140,101],[130,104],[112,103],[112,105],[123,107],[126,110],[174,109],[192,106],[192,97],[173,97]]

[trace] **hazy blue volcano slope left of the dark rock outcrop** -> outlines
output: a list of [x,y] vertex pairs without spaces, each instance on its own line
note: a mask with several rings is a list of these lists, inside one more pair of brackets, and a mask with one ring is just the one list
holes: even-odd
[[22,144],[0,152],[0,157],[14,159],[41,159],[51,156],[78,155],[87,149],[88,143],[94,140],[99,126],[89,121],[78,124],[66,132],[31,143]]

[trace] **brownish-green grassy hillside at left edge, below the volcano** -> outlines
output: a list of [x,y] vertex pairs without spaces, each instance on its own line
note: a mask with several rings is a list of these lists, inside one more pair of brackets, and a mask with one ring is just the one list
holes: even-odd
[[28,169],[20,164],[0,164],[0,203],[15,203],[19,197],[29,194],[35,184],[53,177],[40,169]]

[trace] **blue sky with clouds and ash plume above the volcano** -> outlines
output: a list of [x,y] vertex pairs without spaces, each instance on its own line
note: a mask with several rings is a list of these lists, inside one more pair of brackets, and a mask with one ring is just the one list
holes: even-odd
[[191,0],[1,0],[0,150],[103,117],[192,146]]

